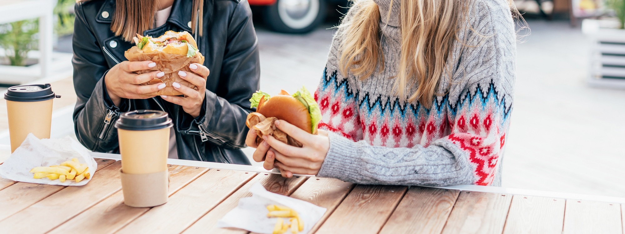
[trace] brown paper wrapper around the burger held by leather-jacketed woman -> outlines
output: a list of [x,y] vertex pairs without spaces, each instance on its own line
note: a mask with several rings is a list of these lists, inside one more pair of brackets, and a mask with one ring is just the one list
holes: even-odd
[[195,85],[192,85],[187,80],[184,80],[183,78],[178,76],[178,71],[191,72],[189,64],[193,62],[196,62],[198,64],[204,64],[204,56],[202,56],[199,51],[196,52],[195,56],[187,57],[179,54],[167,54],[159,51],[144,53],[141,49],[139,49],[139,47],[133,46],[132,48],[128,49],[128,51],[124,52],[124,56],[126,57],[126,59],[128,59],[128,61],[131,62],[156,62],[156,67],[152,67],[149,70],[137,71],[135,72],[136,74],[143,74],[153,71],[162,71],[165,73],[165,76],[150,80],[149,82],[142,85],[158,84],[160,82],[163,82],[167,86],[156,92],[141,95],[143,97],[151,97],[154,95],[182,95],[183,93],[178,92],[178,90],[174,89],[174,87],[171,85],[174,82],[178,82],[181,85],[184,85],[191,89],[195,89]]

